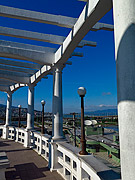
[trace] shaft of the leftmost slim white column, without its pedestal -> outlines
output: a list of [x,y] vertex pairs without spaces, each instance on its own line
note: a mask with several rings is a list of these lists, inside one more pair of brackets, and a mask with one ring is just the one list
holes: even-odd
[[6,126],[11,124],[12,93],[7,93]]

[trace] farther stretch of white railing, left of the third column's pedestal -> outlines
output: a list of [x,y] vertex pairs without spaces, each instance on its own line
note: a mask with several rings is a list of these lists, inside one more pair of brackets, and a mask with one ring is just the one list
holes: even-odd
[[[0,126],[3,131],[4,126]],[[24,128],[8,126],[8,139],[14,140],[23,144],[25,147],[31,147],[39,155],[45,158],[47,161],[49,159],[49,139],[50,136],[45,134],[42,135],[34,130],[27,131]]]

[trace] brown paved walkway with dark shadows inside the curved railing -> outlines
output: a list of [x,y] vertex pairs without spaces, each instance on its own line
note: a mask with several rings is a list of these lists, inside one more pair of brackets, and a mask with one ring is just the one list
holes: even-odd
[[6,180],[63,180],[56,171],[49,171],[46,160],[22,144],[0,138],[0,151],[5,151],[10,161]]

